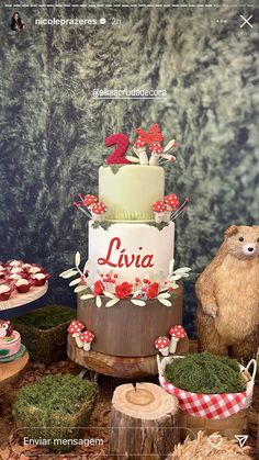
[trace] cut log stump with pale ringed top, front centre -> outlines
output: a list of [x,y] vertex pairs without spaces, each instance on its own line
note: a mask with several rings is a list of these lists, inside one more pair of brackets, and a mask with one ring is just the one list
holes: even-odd
[[110,456],[113,460],[164,460],[179,441],[178,401],[154,383],[115,389]]

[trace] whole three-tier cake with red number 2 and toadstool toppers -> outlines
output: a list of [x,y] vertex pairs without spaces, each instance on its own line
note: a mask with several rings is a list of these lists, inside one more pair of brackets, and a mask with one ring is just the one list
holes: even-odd
[[121,357],[156,355],[155,339],[182,324],[179,280],[190,270],[173,268],[172,221],[188,200],[180,205],[174,193],[165,197],[161,165],[174,161],[174,141],[162,148],[158,125],[137,134],[133,156],[125,156],[124,134],[106,138],[116,149],[99,169],[99,195],[79,194],[75,203],[90,218],[89,260],[81,269],[78,253],[76,266],[61,273],[79,273],[70,285],[78,321],[94,336],[92,350]]

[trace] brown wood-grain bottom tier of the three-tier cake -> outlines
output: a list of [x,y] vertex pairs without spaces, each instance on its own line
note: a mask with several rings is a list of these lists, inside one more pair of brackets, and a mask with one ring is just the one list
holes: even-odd
[[182,324],[181,283],[172,302],[172,306],[165,306],[154,299],[145,306],[138,306],[131,299],[124,299],[110,308],[104,306],[104,302],[98,308],[94,299],[81,301],[78,295],[78,319],[94,333],[94,351],[121,357],[155,356],[154,340],[167,336],[171,326]]

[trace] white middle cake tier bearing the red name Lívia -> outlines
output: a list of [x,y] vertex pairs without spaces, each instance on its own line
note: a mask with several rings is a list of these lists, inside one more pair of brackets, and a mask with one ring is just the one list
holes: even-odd
[[89,222],[89,279],[100,279],[111,270],[120,281],[134,282],[147,274],[168,276],[173,258],[174,224],[162,228],[150,223],[115,222],[109,228]]

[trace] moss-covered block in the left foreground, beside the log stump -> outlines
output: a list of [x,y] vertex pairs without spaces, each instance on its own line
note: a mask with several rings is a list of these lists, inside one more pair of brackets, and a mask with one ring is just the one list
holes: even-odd
[[12,414],[32,439],[48,439],[52,450],[65,452],[71,446],[58,440],[78,439],[87,426],[97,396],[97,386],[70,374],[47,375],[23,386]]

